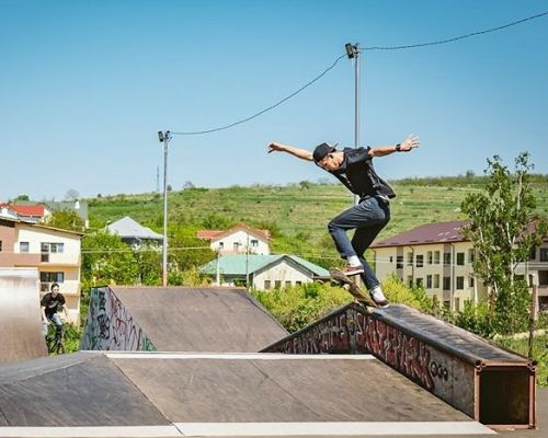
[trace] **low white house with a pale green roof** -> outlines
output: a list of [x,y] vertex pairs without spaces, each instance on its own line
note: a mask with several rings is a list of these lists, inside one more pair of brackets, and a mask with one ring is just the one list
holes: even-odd
[[249,285],[262,290],[313,281],[329,272],[295,255],[228,254],[220,255],[201,268],[216,278],[219,286]]

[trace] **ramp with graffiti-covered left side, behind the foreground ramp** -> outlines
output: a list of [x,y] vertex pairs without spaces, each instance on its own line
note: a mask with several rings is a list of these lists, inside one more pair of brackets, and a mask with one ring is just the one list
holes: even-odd
[[288,332],[242,288],[93,288],[81,349],[258,351]]

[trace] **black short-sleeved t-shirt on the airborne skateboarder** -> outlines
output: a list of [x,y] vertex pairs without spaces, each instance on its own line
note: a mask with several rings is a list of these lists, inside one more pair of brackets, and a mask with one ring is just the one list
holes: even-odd
[[375,172],[369,149],[344,148],[344,161],[341,166],[328,172],[361,198],[375,195],[396,197],[392,188]]

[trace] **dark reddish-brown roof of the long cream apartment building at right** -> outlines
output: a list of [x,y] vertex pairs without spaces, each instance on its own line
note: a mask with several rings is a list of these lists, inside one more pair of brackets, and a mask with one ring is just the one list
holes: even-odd
[[413,228],[410,231],[402,232],[391,238],[381,240],[372,245],[372,249],[386,246],[408,246],[425,245],[430,243],[448,243],[467,241],[460,229],[466,224],[466,220],[454,220],[450,222],[427,223],[425,226]]

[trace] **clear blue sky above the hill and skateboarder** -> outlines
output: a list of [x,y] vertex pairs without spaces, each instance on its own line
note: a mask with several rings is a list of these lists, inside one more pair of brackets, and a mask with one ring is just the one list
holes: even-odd
[[[133,194],[163,175],[158,130],[244,119],[359,55],[362,146],[421,138],[375,159],[385,178],[482,174],[529,151],[548,173],[548,0],[0,0],[0,200]],[[354,146],[354,64],[341,59],[250,122],[173,136],[168,184],[201,187],[331,178],[266,153]],[[334,182],[334,180],[333,180]]]

